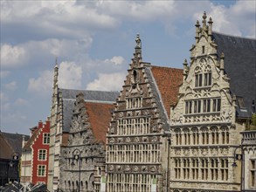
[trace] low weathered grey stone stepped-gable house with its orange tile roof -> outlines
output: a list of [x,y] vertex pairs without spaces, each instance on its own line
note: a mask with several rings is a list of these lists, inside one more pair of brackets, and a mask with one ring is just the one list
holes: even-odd
[[[103,138],[102,141],[98,132],[106,134],[113,109],[113,104],[87,103],[84,95],[78,94],[69,138],[66,146],[61,148],[59,189],[62,191],[100,191],[101,178],[105,177],[105,164],[102,162],[106,154],[105,140]],[[103,127],[90,120],[93,115],[97,115]]]

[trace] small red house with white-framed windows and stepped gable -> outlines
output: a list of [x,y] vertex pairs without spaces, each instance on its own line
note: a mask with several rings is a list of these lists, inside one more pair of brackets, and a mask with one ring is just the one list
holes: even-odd
[[31,128],[31,138],[24,141],[21,158],[21,183],[37,185],[47,184],[49,160],[50,120],[38,122]]

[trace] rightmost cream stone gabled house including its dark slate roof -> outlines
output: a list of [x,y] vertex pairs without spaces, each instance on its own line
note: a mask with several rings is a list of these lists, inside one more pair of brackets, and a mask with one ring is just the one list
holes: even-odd
[[171,107],[170,191],[244,191],[243,158],[232,165],[256,99],[256,42],[213,32],[206,18]]

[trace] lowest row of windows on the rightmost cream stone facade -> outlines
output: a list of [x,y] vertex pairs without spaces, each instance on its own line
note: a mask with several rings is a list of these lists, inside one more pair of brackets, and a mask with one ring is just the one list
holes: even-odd
[[228,159],[176,158],[175,179],[228,180]]

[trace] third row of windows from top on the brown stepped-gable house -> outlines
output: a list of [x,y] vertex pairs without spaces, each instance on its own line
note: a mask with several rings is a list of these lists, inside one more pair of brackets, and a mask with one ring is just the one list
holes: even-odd
[[109,145],[107,162],[159,162],[160,145]]

